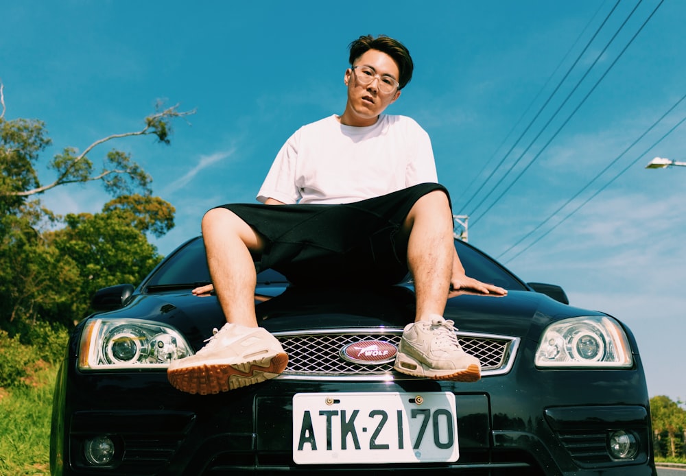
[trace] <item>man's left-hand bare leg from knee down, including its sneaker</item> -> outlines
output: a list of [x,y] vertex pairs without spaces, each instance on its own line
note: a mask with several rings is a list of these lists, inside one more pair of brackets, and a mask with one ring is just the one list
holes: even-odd
[[191,394],[216,394],[272,379],[288,356],[255,318],[255,264],[263,239],[235,213],[213,209],[202,219],[210,273],[226,324],[195,355],[171,361],[171,385]]

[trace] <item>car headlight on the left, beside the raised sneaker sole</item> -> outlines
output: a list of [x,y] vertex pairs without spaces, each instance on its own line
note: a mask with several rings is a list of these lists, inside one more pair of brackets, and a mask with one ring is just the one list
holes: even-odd
[[176,329],[137,319],[93,319],[81,334],[80,370],[165,368],[193,353]]

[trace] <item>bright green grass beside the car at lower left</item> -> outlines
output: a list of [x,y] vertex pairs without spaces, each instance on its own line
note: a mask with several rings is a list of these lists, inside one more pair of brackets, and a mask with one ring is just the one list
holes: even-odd
[[0,388],[0,475],[50,474],[50,418],[57,366],[39,361],[19,385]]

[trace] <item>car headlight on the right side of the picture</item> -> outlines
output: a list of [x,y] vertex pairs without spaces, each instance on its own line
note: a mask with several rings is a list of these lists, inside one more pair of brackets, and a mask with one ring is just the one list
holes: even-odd
[[628,368],[632,364],[624,330],[616,320],[605,316],[551,324],[536,349],[537,367]]

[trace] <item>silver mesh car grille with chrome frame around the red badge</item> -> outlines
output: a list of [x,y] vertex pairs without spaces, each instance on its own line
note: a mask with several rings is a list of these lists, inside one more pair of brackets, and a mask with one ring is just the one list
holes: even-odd
[[[389,380],[405,378],[394,372],[393,362],[355,364],[344,360],[341,349],[348,344],[379,340],[399,346],[403,329],[336,329],[274,333],[288,354],[288,366],[281,379],[364,379]],[[482,364],[482,376],[503,374],[510,370],[517,353],[519,338],[503,335],[457,333],[460,345]]]

